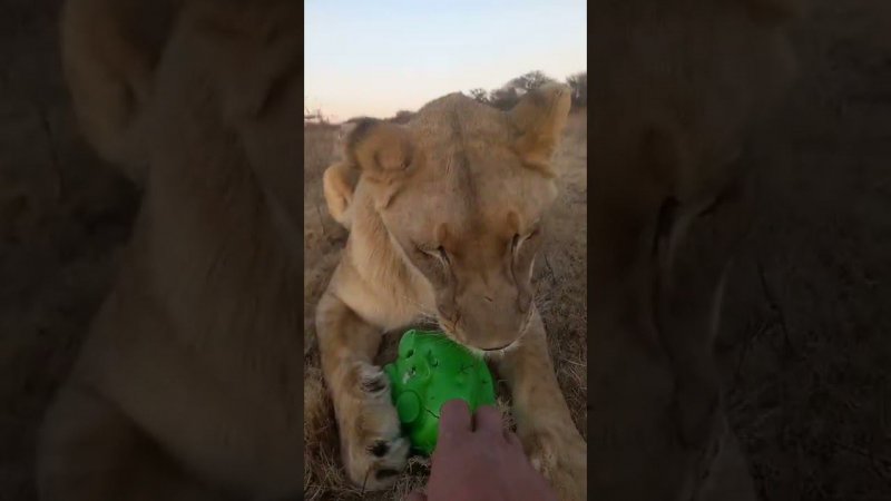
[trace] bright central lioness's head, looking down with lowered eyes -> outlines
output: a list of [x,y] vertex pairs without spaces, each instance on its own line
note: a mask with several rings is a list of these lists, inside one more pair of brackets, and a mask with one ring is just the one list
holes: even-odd
[[531,272],[542,216],[557,196],[549,159],[569,88],[531,91],[510,111],[453,94],[407,125],[365,120],[350,132],[359,173],[325,176],[329,208],[353,233],[385,232],[429,284],[440,325],[462,344],[501,350],[532,313]]

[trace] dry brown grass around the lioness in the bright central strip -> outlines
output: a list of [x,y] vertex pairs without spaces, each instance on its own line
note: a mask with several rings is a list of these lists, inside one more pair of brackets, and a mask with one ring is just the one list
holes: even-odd
[[[340,463],[334,413],[319,370],[313,307],[327,283],[340,256],[346,232],[327,214],[322,195],[321,175],[331,163],[335,132],[310,128],[304,131],[304,328],[305,413],[304,495],[307,500],[391,500],[402,499],[422,485],[429,474],[425,461],[413,458],[395,487],[388,492],[363,493],[346,480]],[[587,421],[587,313],[586,313],[586,240],[587,210],[587,116],[574,114],[565,140],[556,154],[561,168],[562,196],[550,216],[550,242],[535,274],[538,291],[536,303],[548,330],[550,351],[557,377],[576,425],[582,433]],[[399,333],[388,336],[378,362],[395,356]],[[509,414],[509,402],[499,385],[499,406]]]

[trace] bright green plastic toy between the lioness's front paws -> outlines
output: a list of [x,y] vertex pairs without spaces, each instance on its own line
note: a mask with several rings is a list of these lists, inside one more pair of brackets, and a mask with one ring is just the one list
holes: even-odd
[[470,412],[495,405],[495,386],[481,356],[441,332],[411,330],[399,342],[399,357],[383,367],[390,377],[393,404],[412,448],[430,455],[437,446],[439,412],[453,399]]

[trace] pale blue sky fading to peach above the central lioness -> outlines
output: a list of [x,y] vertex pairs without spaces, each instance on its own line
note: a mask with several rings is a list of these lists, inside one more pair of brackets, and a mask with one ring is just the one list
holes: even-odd
[[333,121],[391,117],[532,70],[585,71],[586,0],[305,0],[304,101]]

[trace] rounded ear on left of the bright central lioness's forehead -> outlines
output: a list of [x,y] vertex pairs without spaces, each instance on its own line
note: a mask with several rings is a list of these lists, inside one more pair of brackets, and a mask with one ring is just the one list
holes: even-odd
[[347,159],[374,181],[403,176],[418,160],[415,153],[410,132],[396,124],[364,119],[346,137]]

